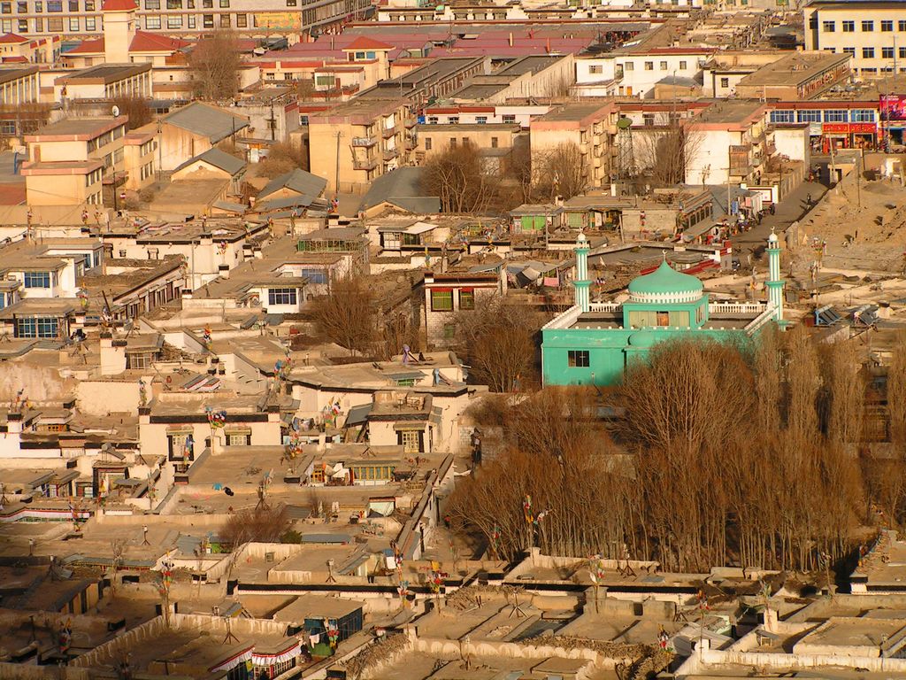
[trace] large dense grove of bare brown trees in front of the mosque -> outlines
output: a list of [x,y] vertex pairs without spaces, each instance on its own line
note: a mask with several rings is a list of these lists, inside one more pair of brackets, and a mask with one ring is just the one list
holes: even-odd
[[[669,343],[605,401],[595,390],[547,389],[502,409],[507,451],[458,486],[450,515],[505,559],[535,536],[553,554],[629,555],[686,571],[824,568],[848,554],[877,508],[891,520],[906,510],[898,355],[892,457],[861,450],[866,381],[853,345],[818,345],[805,330],[766,332],[757,348]],[[609,432],[604,405],[621,414]],[[537,526],[525,521],[526,495],[550,510]]]

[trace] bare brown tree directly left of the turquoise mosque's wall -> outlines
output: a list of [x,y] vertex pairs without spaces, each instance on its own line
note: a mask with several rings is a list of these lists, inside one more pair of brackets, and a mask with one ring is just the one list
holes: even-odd
[[530,307],[495,297],[454,320],[458,354],[481,384],[510,392],[534,382],[535,333],[540,320]]

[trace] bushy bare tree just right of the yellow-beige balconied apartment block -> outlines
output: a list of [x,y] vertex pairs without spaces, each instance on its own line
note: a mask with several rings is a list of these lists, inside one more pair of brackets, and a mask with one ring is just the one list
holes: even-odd
[[473,213],[487,208],[494,182],[473,144],[451,147],[431,156],[422,171],[422,189],[438,196],[445,212]]

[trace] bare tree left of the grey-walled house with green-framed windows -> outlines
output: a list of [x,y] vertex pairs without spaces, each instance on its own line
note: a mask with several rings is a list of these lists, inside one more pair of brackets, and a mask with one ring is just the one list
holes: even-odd
[[371,349],[377,335],[377,301],[367,277],[333,281],[330,293],[313,303],[318,332],[350,351]]

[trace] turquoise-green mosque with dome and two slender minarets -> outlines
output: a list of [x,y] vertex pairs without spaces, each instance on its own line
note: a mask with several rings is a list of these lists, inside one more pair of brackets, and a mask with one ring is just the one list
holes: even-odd
[[651,347],[685,337],[745,344],[771,321],[783,319],[780,247],[767,240],[768,301],[711,303],[698,277],[683,274],[664,260],[651,274],[633,279],[623,303],[590,301],[588,241],[575,248],[575,304],[542,328],[545,385],[614,384],[626,366]]

